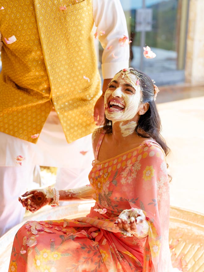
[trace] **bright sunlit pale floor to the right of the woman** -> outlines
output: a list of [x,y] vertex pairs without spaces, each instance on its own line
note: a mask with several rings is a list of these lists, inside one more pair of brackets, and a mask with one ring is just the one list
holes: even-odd
[[204,213],[204,86],[159,89],[162,135],[171,148],[170,204]]

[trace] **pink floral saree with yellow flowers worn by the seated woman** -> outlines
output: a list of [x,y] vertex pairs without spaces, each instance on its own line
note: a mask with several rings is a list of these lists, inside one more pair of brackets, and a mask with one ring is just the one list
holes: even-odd
[[[9,272],[169,272],[169,185],[165,154],[154,141],[103,162],[89,174],[96,204],[77,219],[28,222],[15,236]],[[124,209],[142,209],[143,239],[126,237],[114,222]],[[100,214],[94,209],[106,209]]]

